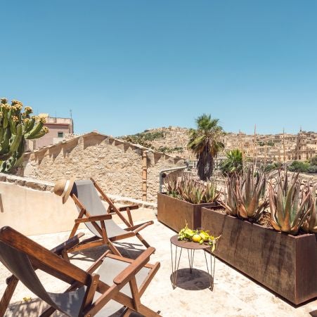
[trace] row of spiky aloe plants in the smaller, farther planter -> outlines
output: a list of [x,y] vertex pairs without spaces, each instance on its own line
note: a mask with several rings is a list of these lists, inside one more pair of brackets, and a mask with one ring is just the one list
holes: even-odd
[[167,188],[167,195],[192,204],[215,202],[220,195],[216,189],[216,184],[212,181],[198,181],[186,176],[182,178],[167,178],[164,183]]

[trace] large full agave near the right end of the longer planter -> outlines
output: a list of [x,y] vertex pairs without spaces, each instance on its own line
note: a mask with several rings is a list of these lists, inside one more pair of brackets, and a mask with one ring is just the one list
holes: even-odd
[[311,212],[310,195],[309,186],[302,186],[298,173],[290,182],[287,172],[285,176],[278,176],[275,185],[271,181],[269,203],[273,228],[296,235]]

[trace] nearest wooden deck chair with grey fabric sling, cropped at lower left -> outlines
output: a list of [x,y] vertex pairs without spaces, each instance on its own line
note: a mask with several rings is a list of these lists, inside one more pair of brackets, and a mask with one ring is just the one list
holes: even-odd
[[[66,243],[67,244],[67,243]],[[148,287],[160,263],[148,264],[153,247],[131,260],[105,252],[87,271],[58,257],[13,228],[0,229],[0,261],[13,276],[0,305],[0,316],[8,307],[15,286],[20,280],[29,290],[49,305],[41,316],[61,311],[66,316],[111,316],[125,307],[124,316],[136,311],[144,316],[160,316],[141,304],[141,295]],[[70,284],[62,293],[47,292],[35,270],[44,271]]]

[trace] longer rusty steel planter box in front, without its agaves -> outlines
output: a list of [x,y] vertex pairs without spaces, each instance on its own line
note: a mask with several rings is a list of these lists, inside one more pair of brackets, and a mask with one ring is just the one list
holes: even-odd
[[317,235],[287,235],[207,208],[201,214],[202,226],[222,234],[217,257],[293,304],[317,297]]

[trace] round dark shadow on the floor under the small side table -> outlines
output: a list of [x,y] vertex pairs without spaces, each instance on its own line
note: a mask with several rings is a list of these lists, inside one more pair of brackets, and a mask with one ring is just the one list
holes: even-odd
[[[172,274],[169,277],[172,283]],[[192,269],[179,269],[177,270],[176,287],[183,290],[205,290],[210,287],[210,280],[212,278],[207,272]]]

